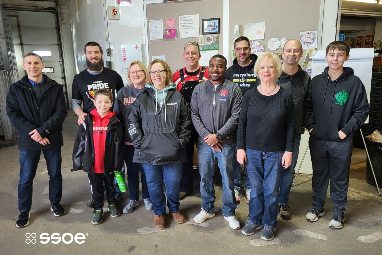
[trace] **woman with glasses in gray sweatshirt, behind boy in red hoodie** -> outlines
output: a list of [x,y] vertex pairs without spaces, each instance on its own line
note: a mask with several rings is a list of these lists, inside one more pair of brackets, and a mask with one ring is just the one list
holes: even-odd
[[[115,114],[118,119],[121,120],[122,127],[125,130],[125,162],[130,200],[125,208],[123,208],[123,213],[131,213],[134,208],[139,205],[139,171],[141,171],[142,199],[146,210],[154,209],[150,200],[149,190],[147,189],[144,170],[141,164],[133,162],[134,146],[133,143],[131,143],[131,137],[128,132],[131,106],[138,94],[141,93],[146,86],[147,70],[142,62],[133,61],[127,73],[127,86],[118,91],[114,105]],[[124,171],[122,171],[122,173],[124,174]]]

